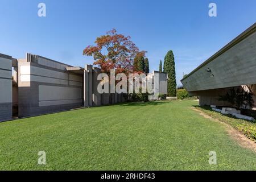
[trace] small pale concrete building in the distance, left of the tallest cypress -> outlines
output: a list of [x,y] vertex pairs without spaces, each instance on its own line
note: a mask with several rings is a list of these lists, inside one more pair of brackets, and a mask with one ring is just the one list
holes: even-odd
[[159,94],[167,94],[168,73],[153,71],[147,75],[147,79],[152,80],[154,90],[154,93],[148,96],[148,100],[158,100]]

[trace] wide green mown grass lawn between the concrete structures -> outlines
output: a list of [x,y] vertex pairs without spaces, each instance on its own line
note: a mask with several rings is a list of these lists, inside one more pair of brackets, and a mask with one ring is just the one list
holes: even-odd
[[[121,104],[0,123],[0,170],[255,170],[256,153],[193,105]],[[46,165],[38,164],[39,151]]]

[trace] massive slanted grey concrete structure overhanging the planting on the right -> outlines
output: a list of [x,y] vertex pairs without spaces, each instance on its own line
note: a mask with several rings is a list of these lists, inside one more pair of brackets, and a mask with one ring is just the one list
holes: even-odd
[[200,105],[230,106],[217,98],[233,87],[249,89],[256,94],[255,70],[256,23],[189,73],[181,82],[190,94],[199,96]]

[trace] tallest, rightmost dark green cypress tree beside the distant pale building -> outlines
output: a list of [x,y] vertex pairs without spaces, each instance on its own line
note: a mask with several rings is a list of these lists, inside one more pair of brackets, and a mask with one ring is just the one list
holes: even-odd
[[168,73],[168,96],[176,97],[176,73],[174,53],[168,51],[166,57],[164,57],[164,72]]

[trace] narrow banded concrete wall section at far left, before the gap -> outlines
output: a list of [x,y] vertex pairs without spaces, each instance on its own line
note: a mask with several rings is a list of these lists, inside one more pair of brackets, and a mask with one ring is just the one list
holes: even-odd
[[0,121],[13,115],[12,58],[0,53]]

